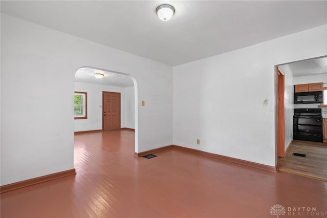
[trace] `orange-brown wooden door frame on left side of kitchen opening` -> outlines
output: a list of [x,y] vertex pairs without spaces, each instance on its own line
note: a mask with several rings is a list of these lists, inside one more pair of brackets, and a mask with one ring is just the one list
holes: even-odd
[[[276,67],[276,167],[278,157],[285,156],[285,78],[284,74]],[[279,99],[279,100],[278,100]]]

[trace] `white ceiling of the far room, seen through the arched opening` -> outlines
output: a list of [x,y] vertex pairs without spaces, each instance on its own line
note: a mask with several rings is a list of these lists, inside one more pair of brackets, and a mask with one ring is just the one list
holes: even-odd
[[[103,78],[97,79],[94,74],[101,73],[104,74]],[[111,85],[111,86],[119,86],[119,87],[129,87],[133,86],[134,83],[129,76],[97,70],[92,68],[80,68],[77,70],[75,74],[75,81],[76,82],[87,82],[87,83],[95,83],[95,84],[102,84],[102,85]]]

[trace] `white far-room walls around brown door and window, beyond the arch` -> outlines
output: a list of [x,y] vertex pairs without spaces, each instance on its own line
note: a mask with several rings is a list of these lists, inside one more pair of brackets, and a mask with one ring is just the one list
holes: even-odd
[[[126,90],[129,91],[128,95]],[[130,123],[134,123],[134,86],[123,88],[109,85],[75,82],[75,91],[87,92],[87,119],[78,119],[74,121],[75,132],[102,129],[103,91],[121,93],[121,127],[127,127],[126,123],[129,125]],[[133,111],[133,113],[130,111]],[[129,112],[128,116],[127,112]]]

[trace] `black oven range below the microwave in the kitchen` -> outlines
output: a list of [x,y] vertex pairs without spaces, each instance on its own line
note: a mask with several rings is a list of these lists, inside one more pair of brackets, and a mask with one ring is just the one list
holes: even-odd
[[293,139],[323,141],[321,108],[294,109]]

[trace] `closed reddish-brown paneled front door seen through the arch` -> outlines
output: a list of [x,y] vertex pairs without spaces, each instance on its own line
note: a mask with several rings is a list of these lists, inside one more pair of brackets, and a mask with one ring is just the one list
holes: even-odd
[[121,128],[121,94],[102,93],[102,128],[113,130]]

